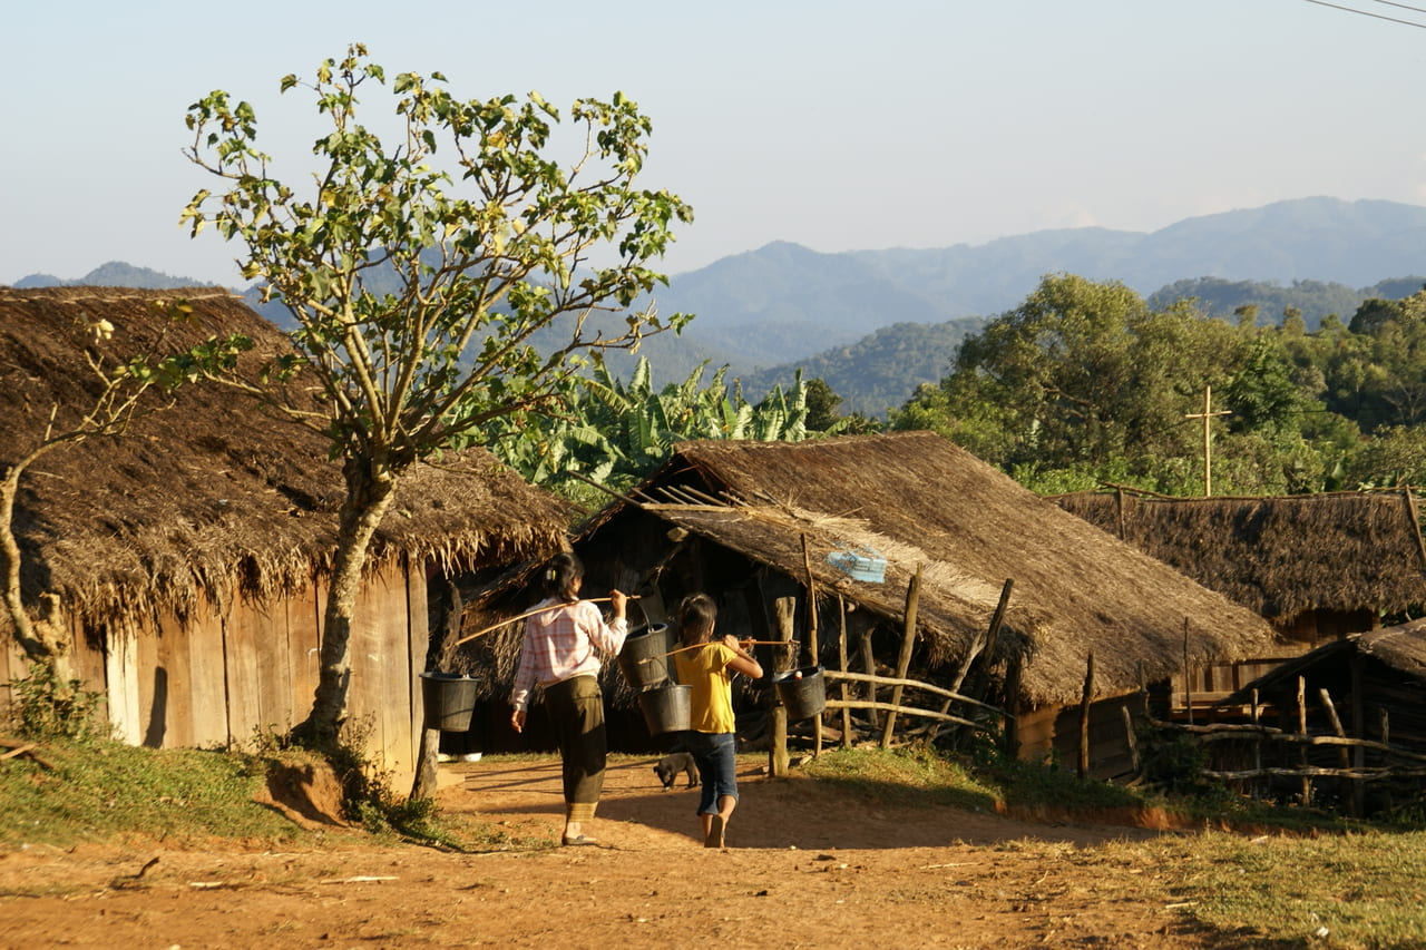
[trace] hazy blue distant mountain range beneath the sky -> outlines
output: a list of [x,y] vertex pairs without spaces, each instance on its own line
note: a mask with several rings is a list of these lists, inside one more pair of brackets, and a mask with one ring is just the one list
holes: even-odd
[[[965,334],[1015,308],[1045,274],[1118,280],[1156,305],[1186,295],[1216,315],[1286,305],[1309,328],[1349,320],[1369,297],[1405,297],[1426,280],[1426,207],[1301,198],[1179,221],[1154,233],[1070,228],[981,245],[821,254],[773,242],[677,274],[659,312],[693,312],[682,335],[647,339],[656,382],[700,362],[732,367],[749,398],[786,384],[794,367],[843,395],[843,409],[880,415],[920,382],[940,379]],[[17,287],[107,284],[174,288],[193,281],[106,264],[78,281],[33,275]],[[254,307],[282,325],[281,308]],[[613,327],[610,327],[613,330]],[[613,355],[616,369],[627,357]],[[712,372],[709,374],[709,377]]]

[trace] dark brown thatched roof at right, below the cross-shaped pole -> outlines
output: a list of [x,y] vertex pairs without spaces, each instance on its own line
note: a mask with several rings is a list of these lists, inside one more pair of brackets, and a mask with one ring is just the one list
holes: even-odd
[[1409,494],[1139,498],[1084,492],[1065,511],[1262,616],[1400,611],[1426,601],[1426,552]]

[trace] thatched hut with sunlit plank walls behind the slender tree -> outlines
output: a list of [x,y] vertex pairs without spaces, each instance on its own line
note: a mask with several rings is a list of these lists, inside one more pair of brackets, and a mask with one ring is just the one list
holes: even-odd
[[[171,322],[164,302],[178,300],[191,318]],[[114,327],[103,351],[81,328],[98,318]],[[93,404],[98,384],[86,349],[127,357],[150,351],[161,334],[165,352],[244,334],[254,342],[250,368],[291,352],[275,327],[212,288],[0,290],[0,461],[36,444],[51,409],[63,429]],[[80,670],[91,688],[104,685],[110,716],[130,739],[242,740],[311,706],[309,652],[335,546],[339,462],[324,435],[237,391],[191,384],[173,397],[147,394],[145,408],[168,399],[121,436],[44,455],[21,479],[14,529],[23,595],[26,603],[58,598]],[[446,456],[404,481],[372,543],[352,639],[352,712],[376,717],[388,762],[411,762],[428,571],[539,556],[565,543],[565,529],[560,502],[483,451]],[[14,649],[3,656],[0,675],[23,675]]]

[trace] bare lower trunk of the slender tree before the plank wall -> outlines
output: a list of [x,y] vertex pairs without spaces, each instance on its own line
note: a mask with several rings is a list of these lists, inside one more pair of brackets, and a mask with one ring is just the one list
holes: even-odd
[[335,742],[345,719],[352,675],[348,645],[366,566],[366,549],[396,488],[395,475],[369,459],[348,458],[342,474],[347,479],[347,499],[342,502],[331,588],[322,619],[322,665],[312,712],[297,729],[318,745]]

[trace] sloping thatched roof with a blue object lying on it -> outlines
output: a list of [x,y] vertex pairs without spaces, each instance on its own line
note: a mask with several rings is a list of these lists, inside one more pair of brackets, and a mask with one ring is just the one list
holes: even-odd
[[[637,506],[719,545],[806,578],[900,622],[923,565],[918,619],[928,660],[955,660],[1014,592],[997,653],[1021,653],[1024,698],[1079,699],[1087,656],[1095,693],[1115,695],[1195,659],[1266,652],[1262,618],[1042,501],[930,432],[811,442],[682,442],[636,494]],[[606,509],[600,531],[635,502]],[[827,556],[866,545],[883,583],[854,581]]]

